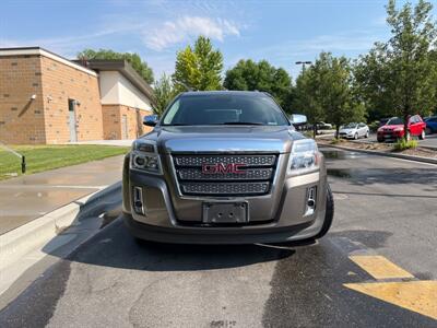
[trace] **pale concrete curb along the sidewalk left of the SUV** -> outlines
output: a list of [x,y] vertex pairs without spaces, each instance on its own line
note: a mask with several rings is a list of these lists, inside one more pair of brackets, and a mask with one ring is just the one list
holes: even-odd
[[0,269],[19,261],[29,251],[43,247],[70,226],[79,224],[78,221],[81,218],[104,209],[104,206],[108,203],[107,200],[117,195],[121,195],[121,181],[0,235]]

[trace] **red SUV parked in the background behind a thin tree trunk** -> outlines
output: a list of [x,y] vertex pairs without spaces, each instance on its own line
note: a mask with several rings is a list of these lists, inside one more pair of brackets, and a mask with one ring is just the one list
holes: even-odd
[[[408,139],[410,137],[418,137],[425,139],[426,122],[418,115],[413,115],[409,118],[409,130],[406,131]],[[387,124],[378,129],[378,142],[395,141],[404,136],[403,119],[399,117],[390,118]]]

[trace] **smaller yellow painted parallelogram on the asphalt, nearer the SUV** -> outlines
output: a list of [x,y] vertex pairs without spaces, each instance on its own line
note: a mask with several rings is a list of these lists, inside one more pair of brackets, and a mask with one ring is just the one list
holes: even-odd
[[414,278],[413,274],[389,261],[383,256],[354,255],[350,259],[375,279]]

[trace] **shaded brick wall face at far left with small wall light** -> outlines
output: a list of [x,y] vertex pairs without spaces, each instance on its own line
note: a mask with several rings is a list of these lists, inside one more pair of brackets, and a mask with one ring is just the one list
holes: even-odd
[[46,142],[39,56],[0,57],[0,141]]

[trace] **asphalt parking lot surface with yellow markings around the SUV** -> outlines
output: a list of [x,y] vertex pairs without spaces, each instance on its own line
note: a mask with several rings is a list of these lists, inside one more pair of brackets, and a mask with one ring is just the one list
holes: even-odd
[[319,243],[139,245],[115,220],[0,327],[436,327],[437,166],[323,152],[335,216]]

